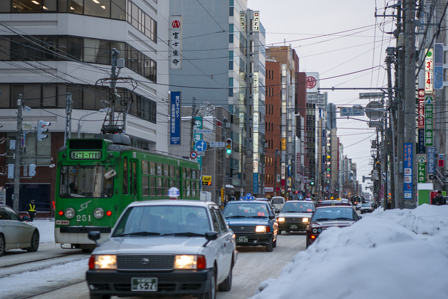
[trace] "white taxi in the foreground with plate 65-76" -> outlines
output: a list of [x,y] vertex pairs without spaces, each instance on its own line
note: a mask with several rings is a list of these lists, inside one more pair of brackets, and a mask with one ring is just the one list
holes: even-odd
[[[89,234],[91,240],[99,232]],[[90,298],[193,295],[230,291],[236,242],[220,207],[195,200],[127,206],[90,258]]]

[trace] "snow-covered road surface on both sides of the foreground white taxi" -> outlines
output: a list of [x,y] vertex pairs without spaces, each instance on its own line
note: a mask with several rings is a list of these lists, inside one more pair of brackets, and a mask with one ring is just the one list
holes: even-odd
[[[291,233],[282,234],[278,237],[277,247],[273,252],[266,252],[264,246],[260,247],[238,247],[238,260],[233,270],[233,286],[230,292],[218,292],[217,299],[244,299],[254,295],[258,285],[269,278],[280,275],[281,269],[289,264],[294,255],[305,250],[305,234]],[[43,249],[42,249],[43,251]],[[25,257],[26,254],[21,255]],[[87,299],[89,290],[86,282],[80,282],[85,278],[88,263],[87,254],[74,254],[52,260],[55,266],[47,267],[38,262],[36,268],[39,270],[22,272],[14,271],[17,275],[0,278],[0,285],[9,286],[6,293],[8,299],[32,298],[32,299]],[[27,264],[26,267],[29,267]],[[33,263],[34,265],[34,263]],[[23,268],[24,265],[16,266]],[[28,268],[28,271],[30,269]],[[18,276],[20,275],[20,276]],[[1,277],[1,274],[0,274]],[[20,280],[17,278],[20,277]],[[25,291],[23,282],[32,282],[34,286],[40,286],[33,291]],[[58,286],[68,287],[50,291],[48,293],[29,297],[32,294],[44,290],[56,289]],[[15,286],[15,287],[14,287]],[[185,297],[185,299],[192,297]],[[113,297],[116,299],[116,297]]]

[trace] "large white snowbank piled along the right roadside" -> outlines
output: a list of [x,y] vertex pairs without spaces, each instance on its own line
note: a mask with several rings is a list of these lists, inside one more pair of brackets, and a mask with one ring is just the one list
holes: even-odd
[[448,205],[330,228],[252,299],[448,298]]

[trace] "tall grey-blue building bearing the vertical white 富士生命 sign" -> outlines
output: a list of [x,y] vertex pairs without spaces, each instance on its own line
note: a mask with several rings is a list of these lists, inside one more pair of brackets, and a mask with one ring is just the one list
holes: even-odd
[[[170,1],[170,91],[182,105],[208,101],[230,112],[225,184],[235,196],[263,194],[265,30],[246,0]],[[182,115],[182,116],[189,116]],[[223,120],[220,120],[223,121]],[[247,170],[247,171],[244,171]],[[241,179],[242,176],[242,179]]]

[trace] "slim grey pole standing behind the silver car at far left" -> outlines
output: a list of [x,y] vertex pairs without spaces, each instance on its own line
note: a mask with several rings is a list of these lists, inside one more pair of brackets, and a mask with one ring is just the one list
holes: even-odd
[[17,100],[17,133],[15,136],[15,159],[14,159],[14,199],[12,201],[12,208],[18,211],[19,196],[20,196],[20,164],[22,158],[22,111],[23,98],[19,95]]

